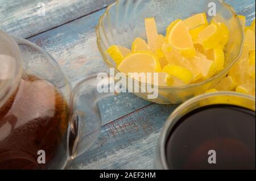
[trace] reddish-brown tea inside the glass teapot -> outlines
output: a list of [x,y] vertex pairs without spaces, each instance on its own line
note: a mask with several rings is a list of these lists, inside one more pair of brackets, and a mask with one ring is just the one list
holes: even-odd
[[[68,117],[68,104],[55,86],[23,75],[0,108],[0,170],[46,169],[47,163],[66,158]],[[39,150],[45,153],[43,164]]]

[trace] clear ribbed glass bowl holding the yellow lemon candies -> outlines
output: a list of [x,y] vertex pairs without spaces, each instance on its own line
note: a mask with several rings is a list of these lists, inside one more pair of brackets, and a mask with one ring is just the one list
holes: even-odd
[[[209,16],[211,5],[216,5],[216,16]],[[225,47],[225,68],[214,77],[183,87],[158,87],[158,97],[148,99],[148,92],[134,93],[137,96],[160,104],[182,103],[193,96],[203,94],[214,87],[228,73],[232,65],[238,60],[242,52],[243,30],[236,12],[223,1],[218,0],[119,0],[110,5],[101,16],[97,33],[97,45],[101,56],[109,68],[114,68],[115,63],[106,50],[111,45],[121,45],[127,48],[136,37],[146,40],[144,19],[155,17],[158,32],[166,35],[166,27],[176,19],[185,19],[193,14],[205,12],[208,20],[225,23],[230,31],[230,39]],[[125,76],[125,75],[123,75]],[[126,81],[130,79],[125,77]],[[142,83],[134,81],[134,86],[142,87]],[[133,90],[129,90],[133,92]]]

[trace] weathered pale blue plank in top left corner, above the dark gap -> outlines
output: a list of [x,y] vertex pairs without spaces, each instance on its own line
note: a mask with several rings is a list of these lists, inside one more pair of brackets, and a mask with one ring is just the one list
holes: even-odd
[[[115,0],[1,0],[0,29],[20,37],[30,37],[90,14]],[[43,12],[45,7],[45,16]]]

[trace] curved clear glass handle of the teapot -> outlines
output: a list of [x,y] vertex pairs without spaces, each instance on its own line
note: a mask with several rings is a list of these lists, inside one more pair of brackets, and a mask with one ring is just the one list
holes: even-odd
[[[96,141],[101,128],[101,115],[97,103],[114,93],[101,93],[98,86],[109,87],[114,79],[106,76],[104,81],[97,76],[81,81],[73,89],[70,99],[72,120],[69,124],[68,146],[71,159],[84,153]],[[110,89],[108,89],[110,90]]]

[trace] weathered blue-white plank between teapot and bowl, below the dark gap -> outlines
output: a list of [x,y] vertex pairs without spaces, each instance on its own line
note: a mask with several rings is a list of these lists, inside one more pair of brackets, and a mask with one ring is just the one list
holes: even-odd
[[60,64],[71,82],[108,72],[96,44],[95,27],[105,10],[31,37]]

